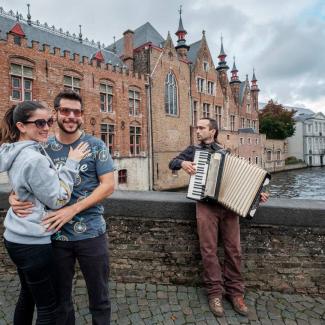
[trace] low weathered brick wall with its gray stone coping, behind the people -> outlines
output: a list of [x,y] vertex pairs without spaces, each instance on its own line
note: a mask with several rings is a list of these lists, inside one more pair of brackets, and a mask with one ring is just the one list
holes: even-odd
[[[6,196],[0,195],[0,210],[7,208]],[[183,193],[116,192],[105,207],[113,279],[201,283],[195,203]],[[252,221],[242,219],[247,287],[325,295],[324,210],[321,201],[272,199]],[[0,246],[0,276],[9,271]]]

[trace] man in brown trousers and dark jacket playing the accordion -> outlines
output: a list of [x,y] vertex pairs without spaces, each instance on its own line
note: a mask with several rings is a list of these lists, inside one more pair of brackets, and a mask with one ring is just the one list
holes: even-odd
[[[183,169],[187,174],[196,172],[193,162],[195,150],[215,152],[222,147],[217,142],[218,124],[210,118],[198,121],[196,134],[199,144],[191,145],[169,163],[172,170]],[[266,202],[268,194],[261,193],[260,200]],[[248,314],[244,301],[244,281],[241,275],[241,247],[239,216],[217,202],[197,201],[197,231],[203,263],[203,281],[207,290],[209,306],[218,317],[224,315],[222,297],[225,295],[236,312]],[[224,245],[224,263],[221,269],[217,256],[218,235]]]

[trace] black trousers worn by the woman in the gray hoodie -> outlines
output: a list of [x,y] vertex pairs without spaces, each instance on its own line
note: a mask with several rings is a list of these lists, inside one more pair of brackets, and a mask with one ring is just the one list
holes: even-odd
[[14,313],[14,325],[31,325],[34,306],[36,325],[55,324],[55,282],[51,244],[25,245],[4,241],[16,264],[21,289]]

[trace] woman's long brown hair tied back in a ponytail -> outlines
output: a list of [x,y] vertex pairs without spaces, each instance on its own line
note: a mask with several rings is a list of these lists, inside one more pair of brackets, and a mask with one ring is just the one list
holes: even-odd
[[37,109],[45,109],[45,107],[40,102],[31,100],[26,100],[8,109],[1,121],[0,144],[18,141],[20,132],[16,124],[26,122]]

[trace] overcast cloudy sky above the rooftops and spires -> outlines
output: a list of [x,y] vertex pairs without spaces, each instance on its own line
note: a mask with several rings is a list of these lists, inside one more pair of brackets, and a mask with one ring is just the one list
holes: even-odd
[[255,67],[260,101],[311,108],[325,113],[324,0],[0,0],[9,11],[64,31],[82,33],[105,45],[127,29],[149,21],[165,38],[178,27],[179,6],[187,44],[206,37],[215,64],[220,36],[229,67],[233,56],[241,80]]

